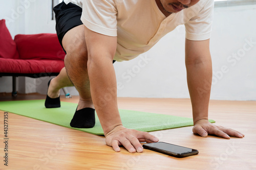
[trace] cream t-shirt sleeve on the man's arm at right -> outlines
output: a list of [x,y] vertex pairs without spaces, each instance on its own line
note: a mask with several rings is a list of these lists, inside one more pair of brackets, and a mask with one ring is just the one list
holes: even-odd
[[205,1],[206,4],[199,13],[185,23],[186,38],[189,40],[206,40],[210,38],[214,13],[214,0]]

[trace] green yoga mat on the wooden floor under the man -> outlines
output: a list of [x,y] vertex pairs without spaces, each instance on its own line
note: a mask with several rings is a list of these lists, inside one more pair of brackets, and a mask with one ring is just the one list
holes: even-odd
[[[72,128],[69,124],[73,118],[77,104],[61,102],[60,108],[45,108],[45,100],[0,102],[0,110],[42,120],[51,124],[77,129],[80,131],[103,135],[97,115],[93,128]],[[193,119],[165,114],[147,113],[119,109],[123,126],[129,129],[151,132],[164,129],[193,126]],[[11,121],[11,120],[10,120]],[[209,120],[215,123],[214,120]]]

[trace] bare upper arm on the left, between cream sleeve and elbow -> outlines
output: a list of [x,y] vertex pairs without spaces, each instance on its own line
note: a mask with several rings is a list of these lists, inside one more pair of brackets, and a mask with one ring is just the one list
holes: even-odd
[[107,36],[89,30],[84,26],[88,60],[109,58],[114,59],[117,47],[117,37]]

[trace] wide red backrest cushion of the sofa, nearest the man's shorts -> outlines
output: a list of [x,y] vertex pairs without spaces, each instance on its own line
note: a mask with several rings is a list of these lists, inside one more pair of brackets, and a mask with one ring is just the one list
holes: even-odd
[[20,59],[64,60],[65,52],[56,34],[18,34],[14,37]]

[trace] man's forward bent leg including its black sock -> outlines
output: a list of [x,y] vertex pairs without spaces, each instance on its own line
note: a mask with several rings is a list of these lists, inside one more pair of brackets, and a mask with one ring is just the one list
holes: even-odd
[[83,25],[68,31],[62,39],[62,45],[67,52],[67,74],[79,92],[78,107],[70,125],[76,128],[92,128],[95,124],[95,110],[87,71],[88,54]]

